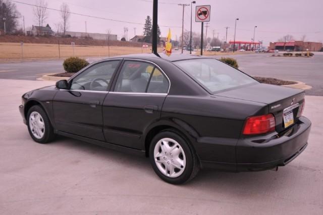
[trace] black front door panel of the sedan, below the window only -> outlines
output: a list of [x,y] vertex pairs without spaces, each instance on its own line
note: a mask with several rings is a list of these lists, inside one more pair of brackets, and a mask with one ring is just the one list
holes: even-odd
[[53,101],[57,129],[104,141],[102,103],[107,92],[60,90]]

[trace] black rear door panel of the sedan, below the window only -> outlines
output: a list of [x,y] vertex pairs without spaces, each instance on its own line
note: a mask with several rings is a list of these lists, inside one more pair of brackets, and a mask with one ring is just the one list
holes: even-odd
[[141,149],[142,133],[160,118],[166,96],[109,93],[103,103],[103,133],[106,141]]

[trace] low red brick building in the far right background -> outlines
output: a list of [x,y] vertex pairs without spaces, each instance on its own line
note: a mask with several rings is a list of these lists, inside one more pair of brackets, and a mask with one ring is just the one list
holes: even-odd
[[289,41],[289,42],[270,42],[269,49],[277,49],[280,51],[306,51],[319,52],[322,49],[321,42],[305,42],[305,41]]

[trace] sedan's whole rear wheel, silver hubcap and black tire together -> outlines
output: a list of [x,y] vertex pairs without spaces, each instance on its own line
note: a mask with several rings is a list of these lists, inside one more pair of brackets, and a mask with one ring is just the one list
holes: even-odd
[[193,179],[199,170],[195,152],[173,131],[161,132],[153,138],[149,157],[155,173],[171,184],[185,183]]

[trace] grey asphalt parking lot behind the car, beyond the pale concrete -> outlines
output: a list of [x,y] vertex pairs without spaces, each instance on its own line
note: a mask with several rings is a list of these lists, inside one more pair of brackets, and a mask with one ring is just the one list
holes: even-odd
[[[306,95],[323,96],[323,53],[315,52],[311,58],[271,57],[271,55],[271,53],[256,53],[224,57],[237,59],[239,69],[249,75],[302,81],[312,87],[306,91]],[[89,62],[99,59],[103,58],[87,58]],[[0,63],[0,78],[35,80],[43,74],[64,72],[62,64],[63,60]]]

